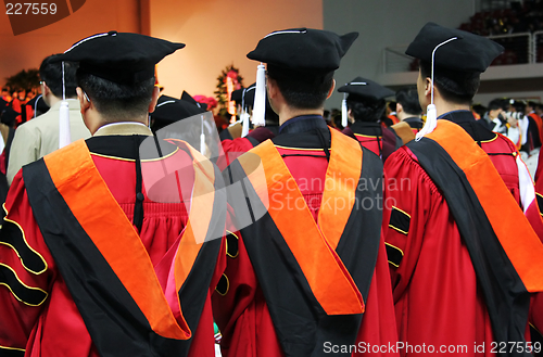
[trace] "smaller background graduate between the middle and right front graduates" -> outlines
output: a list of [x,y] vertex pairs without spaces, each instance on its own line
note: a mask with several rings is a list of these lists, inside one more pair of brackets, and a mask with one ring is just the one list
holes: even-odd
[[349,128],[343,133],[353,133],[361,144],[386,161],[394,150],[402,145],[402,140],[393,130],[381,124],[387,110],[387,97],[394,92],[381,85],[362,77],[356,77],[338,89],[346,97]]

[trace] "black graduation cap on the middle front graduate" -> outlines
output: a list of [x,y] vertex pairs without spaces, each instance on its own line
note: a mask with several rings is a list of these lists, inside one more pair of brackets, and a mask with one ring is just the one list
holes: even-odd
[[247,56],[288,69],[328,73],[339,68],[357,37],[358,33],[339,36],[312,28],[279,30],[261,39]]

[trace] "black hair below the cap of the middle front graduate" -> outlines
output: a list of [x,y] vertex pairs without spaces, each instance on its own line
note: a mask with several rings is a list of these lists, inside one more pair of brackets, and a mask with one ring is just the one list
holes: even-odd
[[323,107],[333,82],[333,71],[316,74],[282,68],[268,63],[267,74],[277,82],[287,103],[302,110]]

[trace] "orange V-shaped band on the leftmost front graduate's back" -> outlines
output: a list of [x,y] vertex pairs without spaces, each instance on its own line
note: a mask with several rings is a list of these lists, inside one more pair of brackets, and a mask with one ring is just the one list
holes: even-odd
[[[45,156],[43,161],[59,193],[125,289],[130,293],[153,331],[167,339],[190,339],[192,333],[188,324],[182,315],[181,324],[177,323],[146,247],[101,178],[85,141],[78,140]],[[195,163],[194,170],[197,174],[194,190],[209,186],[201,181],[202,178],[214,178],[213,171],[211,174],[205,171],[206,168],[201,164]],[[81,192],[85,192],[85,195]],[[207,194],[202,195],[202,200],[207,200],[209,209],[212,209],[213,197]],[[202,206],[202,204],[198,204],[198,206]],[[89,215],[88,212],[93,214]],[[189,219],[194,218],[192,212],[193,209],[189,214]],[[206,216],[204,215],[204,218],[197,219],[197,221],[207,219]],[[194,237],[193,226],[194,224],[189,221],[181,237],[175,262],[176,286],[180,286],[185,281],[202,245],[201,242],[203,242],[201,237],[198,237],[200,243],[195,243],[197,237]],[[198,234],[200,235],[202,232],[200,231]],[[123,248],[121,250],[119,246]],[[191,248],[187,248],[187,246]],[[142,285],[147,289],[141,290]],[[180,310],[180,305],[178,308]]]

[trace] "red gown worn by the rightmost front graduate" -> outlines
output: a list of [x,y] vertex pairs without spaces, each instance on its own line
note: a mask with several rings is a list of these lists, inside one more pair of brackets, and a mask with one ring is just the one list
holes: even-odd
[[[481,148],[487,153],[516,153],[501,136],[481,142]],[[520,205],[515,156],[490,158]],[[384,229],[400,341],[435,350],[462,346],[463,355],[470,356],[484,345],[484,355],[492,355],[493,331],[482,292],[441,190],[407,146],[391,155],[384,170],[390,180],[387,208],[395,216],[386,218]]]

